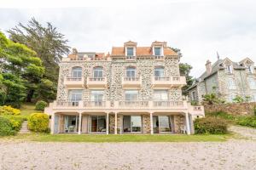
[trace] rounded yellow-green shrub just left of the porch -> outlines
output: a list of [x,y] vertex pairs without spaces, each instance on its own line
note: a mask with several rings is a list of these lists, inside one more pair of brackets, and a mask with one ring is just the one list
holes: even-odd
[[49,132],[49,116],[44,113],[32,113],[28,117],[28,128],[34,132]]

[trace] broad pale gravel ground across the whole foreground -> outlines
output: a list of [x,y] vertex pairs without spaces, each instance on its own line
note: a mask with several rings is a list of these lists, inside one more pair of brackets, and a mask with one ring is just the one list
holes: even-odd
[[0,140],[0,169],[256,169],[256,142],[38,143]]

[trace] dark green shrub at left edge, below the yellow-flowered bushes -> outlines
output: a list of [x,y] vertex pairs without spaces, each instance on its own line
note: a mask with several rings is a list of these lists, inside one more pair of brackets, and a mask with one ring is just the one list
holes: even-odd
[[0,136],[15,135],[17,131],[14,130],[12,123],[8,118],[0,117]]

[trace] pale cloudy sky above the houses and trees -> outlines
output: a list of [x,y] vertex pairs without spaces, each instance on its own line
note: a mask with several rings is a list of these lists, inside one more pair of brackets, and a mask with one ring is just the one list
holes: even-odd
[[[256,1],[247,0],[159,0],[117,1],[0,0],[0,31],[35,17],[50,22],[79,51],[111,52],[129,40],[137,46],[166,41],[180,48],[181,62],[193,66],[191,75],[205,71],[226,57],[239,62],[246,57],[256,62]],[[61,2],[61,3],[60,3]],[[108,3],[106,3],[108,2]]]

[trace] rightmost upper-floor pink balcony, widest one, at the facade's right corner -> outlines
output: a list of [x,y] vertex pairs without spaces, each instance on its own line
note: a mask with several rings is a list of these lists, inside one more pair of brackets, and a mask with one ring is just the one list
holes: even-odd
[[153,88],[182,88],[185,86],[186,77],[153,77]]

